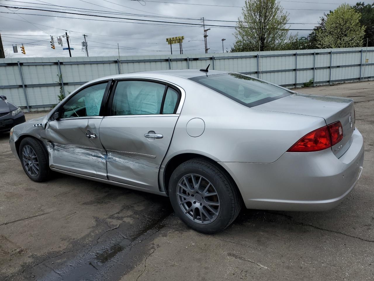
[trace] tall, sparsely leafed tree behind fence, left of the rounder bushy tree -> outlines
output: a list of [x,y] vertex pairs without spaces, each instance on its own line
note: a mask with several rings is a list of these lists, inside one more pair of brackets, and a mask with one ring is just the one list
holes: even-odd
[[288,39],[288,13],[276,0],[246,0],[238,18],[232,52],[271,51]]

